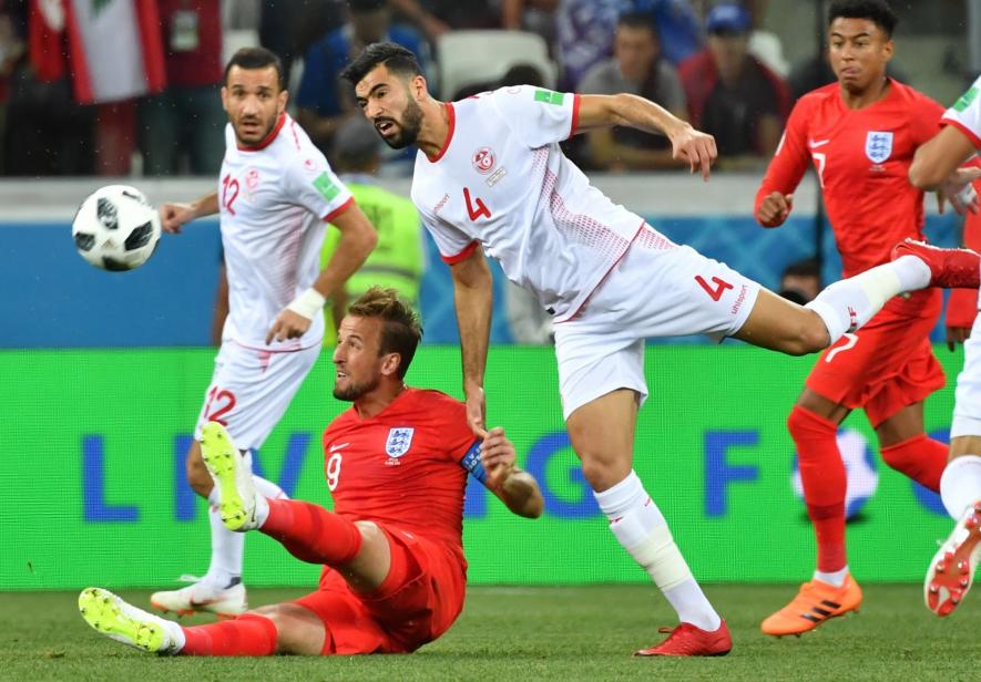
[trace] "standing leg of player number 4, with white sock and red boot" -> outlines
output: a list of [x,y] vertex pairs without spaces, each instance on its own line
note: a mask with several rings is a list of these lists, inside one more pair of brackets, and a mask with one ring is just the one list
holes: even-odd
[[572,447],[610,529],[674,607],[681,624],[641,655],[724,655],[732,649],[725,622],[692,577],[657,505],[633,472],[637,394],[612,391],[566,420]]

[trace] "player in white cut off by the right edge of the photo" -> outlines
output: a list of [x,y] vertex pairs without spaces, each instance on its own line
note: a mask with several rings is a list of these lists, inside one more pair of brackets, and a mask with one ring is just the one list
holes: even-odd
[[[981,78],[943,114],[943,128],[917,149],[910,182],[921,189],[962,190],[981,177],[977,167],[958,168],[981,151]],[[981,560],[981,316],[964,342],[964,369],[957,380],[950,456],[940,477],[940,498],[957,521],[941,545],[923,583],[927,607],[953,611],[967,595]]]

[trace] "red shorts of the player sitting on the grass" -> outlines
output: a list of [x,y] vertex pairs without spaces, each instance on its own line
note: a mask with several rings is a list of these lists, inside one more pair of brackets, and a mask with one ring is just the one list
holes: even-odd
[[395,527],[379,527],[391,546],[392,569],[374,592],[355,592],[325,567],[316,592],[294,603],[324,622],[324,655],[409,653],[449,630],[463,610],[467,570],[450,545]]

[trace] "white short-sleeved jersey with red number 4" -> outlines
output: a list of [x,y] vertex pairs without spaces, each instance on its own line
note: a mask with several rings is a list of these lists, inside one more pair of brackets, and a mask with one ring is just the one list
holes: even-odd
[[480,245],[561,322],[626,252],[644,220],[606,198],[559,142],[579,95],[502,87],[447,103],[440,153],[416,156],[412,202],[449,264]]

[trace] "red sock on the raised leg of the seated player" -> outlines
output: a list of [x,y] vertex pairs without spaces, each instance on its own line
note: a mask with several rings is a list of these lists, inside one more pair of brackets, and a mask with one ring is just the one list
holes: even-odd
[[361,531],[354,523],[298,499],[270,499],[260,530],[307,564],[344,566],[361,549]]

